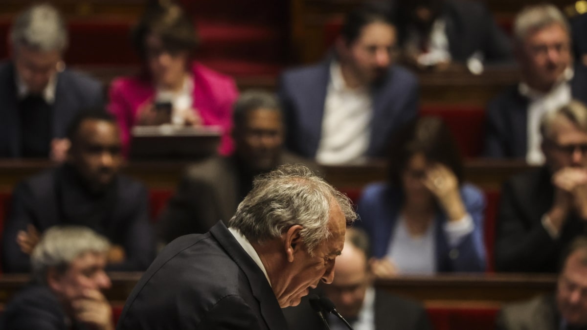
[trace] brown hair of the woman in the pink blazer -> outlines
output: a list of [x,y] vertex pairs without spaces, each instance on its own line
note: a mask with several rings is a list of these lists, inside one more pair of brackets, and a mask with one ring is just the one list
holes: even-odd
[[141,58],[146,58],[145,38],[154,33],[163,42],[165,50],[188,50],[198,46],[194,23],[181,6],[167,1],[156,1],[147,6],[139,23],[131,31],[133,45]]

